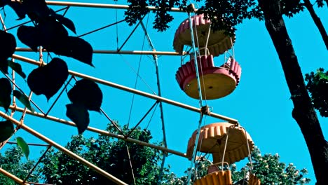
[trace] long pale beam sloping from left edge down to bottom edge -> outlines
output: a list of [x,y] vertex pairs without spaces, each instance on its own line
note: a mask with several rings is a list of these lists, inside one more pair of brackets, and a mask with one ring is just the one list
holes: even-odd
[[29,128],[25,124],[21,124],[19,121],[16,119],[12,118],[11,116],[8,116],[5,114],[3,111],[0,111],[0,116],[11,121],[15,125],[20,125],[20,128],[23,130],[29,132],[30,134],[34,135],[35,137],[38,137],[41,139],[43,142],[46,142],[50,144],[51,146],[55,147],[56,149],[62,151],[63,153],[66,153],[67,156],[70,156],[71,158],[74,158],[75,160],[80,161],[80,163],[83,163],[83,165],[86,165],[87,167],[90,167],[90,169],[95,170],[95,172],[102,174],[102,176],[106,177],[107,179],[110,179],[116,184],[122,184],[122,185],[128,185],[125,182],[121,181],[120,179],[117,179],[113,175],[109,174],[108,172],[102,170],[100,167],[97,167],[93,163],[90,163],[88,160],[81,158],[80,156],[76,155],[75,153],[69,151],[68,149],[64,148],[64,146],[61,146],[60,144],[57,144],[56,142],[53,142],[53,140],[49,139],[48,137],[41,135],[39,132],[36,132],[36,130],[33,130],[32,128]]

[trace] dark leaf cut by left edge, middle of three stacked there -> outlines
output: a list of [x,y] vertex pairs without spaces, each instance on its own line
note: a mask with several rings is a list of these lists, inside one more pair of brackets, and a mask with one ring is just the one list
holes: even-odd
[[7,78],[0,78],[0,87],[0,107],[8,112],[11,105],[11,82]]

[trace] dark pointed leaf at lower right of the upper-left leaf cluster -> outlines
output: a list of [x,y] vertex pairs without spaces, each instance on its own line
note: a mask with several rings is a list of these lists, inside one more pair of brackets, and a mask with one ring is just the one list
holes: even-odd
[[52,46],[49,51],[57,55],[63,55],[72,57],[83,63],[89,64],[94,67],[93,62],[93,47],[87,41],[76,36],[68,36],[57,43],[56,46]]

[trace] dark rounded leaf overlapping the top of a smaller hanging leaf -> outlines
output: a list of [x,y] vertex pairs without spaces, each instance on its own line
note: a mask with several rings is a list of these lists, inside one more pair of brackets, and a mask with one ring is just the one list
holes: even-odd
[[73,104],[82,104],[90,111],[100,112],[102,90],[94,81],[87,79],[76,81],[74,87],[69,90],[68,97]]

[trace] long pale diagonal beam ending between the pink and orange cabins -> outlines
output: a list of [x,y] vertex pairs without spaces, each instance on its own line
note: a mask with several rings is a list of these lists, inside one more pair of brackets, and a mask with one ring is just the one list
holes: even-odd
[[[12,57],[15,58],[15,59],[17,59],[17,60],[21,60],[21,61],[27,62],[29,64],[34,64],[34,65],[39,65],[40,64],[40,62],[38,62],[36,60],[32,60],[32,59],[27,58],[27,57],[22,57],[20,55],[13,54]],[[112,88],[117,88],[117,89],[120,89],[120,90],[125,90],[125,91],[127,91],[129,93],[135,93],[137,95],[148,97],[148,98],[151,98],[153,100],[158,100],[160,102],[165,102],[167,104],[172,104],[172,105],[174,105],[176,107],[181,107],[181,108],[187,109],[189,111],[194,111],[194,112],[198,112],[198,113],[202,113],[203,112],[201,109],[199,109],[197,107],[191,107],[190,105],[182,104],[180,102],[175,102],[175,101],[169,100],[169,99],[167,99],[165,97],[160,97],[158,95],[144,93],[141,90],[135,90],[133,88],[128,88],[128,87],[126,87],[124,85],[119,85],[117,83],[112,83],[110,81],[105,81],[105,80],[102,80],[100,78],[95,78],[95,77],[92,77],[92,76],[88,76],[88,75],[85,75],[85,74],[78,73],[76,71],[69,70],[69,74],[71,74],[73,76],[76,76],[76,77],[79,77],[79,78],[85,78],[85,79],[88,79],[90,81],[94,81],[96,83],[100,83],[102,85],[107,85],[107,86],[112,87]],[[222,116],[220,114],[214,114],[212,112],[205,112],[203,114],[205,114],[207,116],[211,116],[213,118],[219,118],[221,120],[228,121],[229,123],[232,123],[232,124],[238,124],[238,120],[233,119],[233,118],[229,118],[227,116]]]

